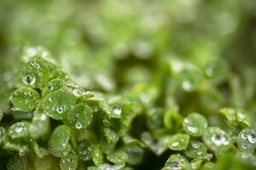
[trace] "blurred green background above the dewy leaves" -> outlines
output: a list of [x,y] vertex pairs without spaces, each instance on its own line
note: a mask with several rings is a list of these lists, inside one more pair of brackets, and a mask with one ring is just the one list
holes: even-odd
[[20,65],[41,54],[84,88],[113,93],[154,82],[173,60],[202,74],[217,60],[232,76],[213,86],[236,92],[226,104],[255,107],[255,0],[3,0],[0,23],[2,105]]

